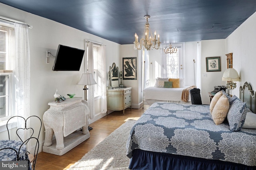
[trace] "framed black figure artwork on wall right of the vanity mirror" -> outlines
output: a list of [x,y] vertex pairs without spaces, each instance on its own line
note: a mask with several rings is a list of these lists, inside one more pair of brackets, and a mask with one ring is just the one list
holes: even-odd
[[137,58],[123,58],[123,80],[137,80]]

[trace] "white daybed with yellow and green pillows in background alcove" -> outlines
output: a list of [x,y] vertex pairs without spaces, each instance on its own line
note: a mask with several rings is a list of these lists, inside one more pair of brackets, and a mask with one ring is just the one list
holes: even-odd
[[[155,102],[191,104],[189,90],[195,86],[185,86],[184,78],[157,78],[154,87],[143,90],[143,106]],[[183,92],[183,93],[182,93]]]

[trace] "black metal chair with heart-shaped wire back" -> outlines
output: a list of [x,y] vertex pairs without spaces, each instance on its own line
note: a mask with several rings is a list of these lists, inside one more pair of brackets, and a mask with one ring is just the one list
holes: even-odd
[[[28,152],[28,158],[29,158],[30,163],[31,163],[31,165],[32,165],[32,169],[34,170],[34,169],[35,169],[35,166],[36,166],[36,160],[37,160],[37,155],[38,155],[38,150],[39,150],[39,141],[38,141],[38,138],[39,138],[40,131],[41,131],[41,128],[42,128],[42,121],[41,121],[41,119],[40,119],[38,116],[34,116],[34,115],[28,117],[27,119],[25,119],[24,117],[21,117],[21,116],[14,116],[14,117],[11,117],[11,118],[7,121],[7,123],[6,123],[6,127],[7,127],[7,131],[8,131],[9,140],[11,139],[11,137],[10,137],[10,132],[9,132],[9,131],[10,131],[10,129],[9,129],[10,126],[8,127],[8,123],[9,123],[9,121],[10,121],[11,119],[15,119],[15,118],[17,118],[19,122],[21,122],[21,121],[20,121],[20,119],[21,119],[21,120],[24,121],[24,123],[25,123],[23,128],[18,128],[18,129],[16,130],[16,135],[17,135],[16,137],[18,137],[18,138],[20,139],[20,141],[23,142],[22,145],[27,145],[28,142],[34,144],[34,146],[32,147],[32,148],[34,148],[34,149],[31,149],[31,150],[27,151],[27,152]],[[40,128],[36,131],[36,133],[34,133],[35,131],[34,131],[34,129],[33,129],[32,127],[27,127],[27,126],[28,126],[28,125],[27,125],[28,119],[30,119],[30,121],[32,120],[33,122],[38,121],[38,122],[36,122],[36,123],[38,123],[38,127],[40,127]],[[30,137],[28,137],[26,140],[22,140],[21,137],[20,137],[20,135],[19,135],[19,133],[18,133],[19,131],[22,131],[22,130],[24,130],[24,131],[30,130]]]

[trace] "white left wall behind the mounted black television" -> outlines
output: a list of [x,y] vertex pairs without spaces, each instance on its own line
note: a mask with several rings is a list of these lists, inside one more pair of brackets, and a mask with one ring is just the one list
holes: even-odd
[[[53,95],[56,88],[58,88],[58,93],[64,97],[67,97],[66,94],[72,93],[76,94],[75,97],[84,98],[83,86],[77,85],[84,72],[84,64],[82,63],[79,72],[52,71],[54,57],[50,57],[50,64],[46,64],[46,50],[55,55],[59,44],[84,49],[84,40],[88,39],[106,45],[107,71],[113,62],[121,66],[120,44],[2,3],[0,3],[0,16],[33,26],[33,29],[28,30],[31,57],[30,115],[37,115],[41,120],[44,112],[49,109],[48,102],[54,100]],[[100,116],[104,116],[104,114]],[[90,120],[90,122],[92,121]],[[3,134],[5,133],[0,134],[0,139],[7,138]],[[42,127],[39,141],[40,143],[44,141],[44,127]]]

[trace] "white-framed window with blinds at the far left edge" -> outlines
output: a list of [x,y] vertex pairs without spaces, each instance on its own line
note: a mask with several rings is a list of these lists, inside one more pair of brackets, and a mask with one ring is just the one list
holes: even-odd
[[11,76],[13,70],[13,28],[0,23],[0,120],[12,116]]

